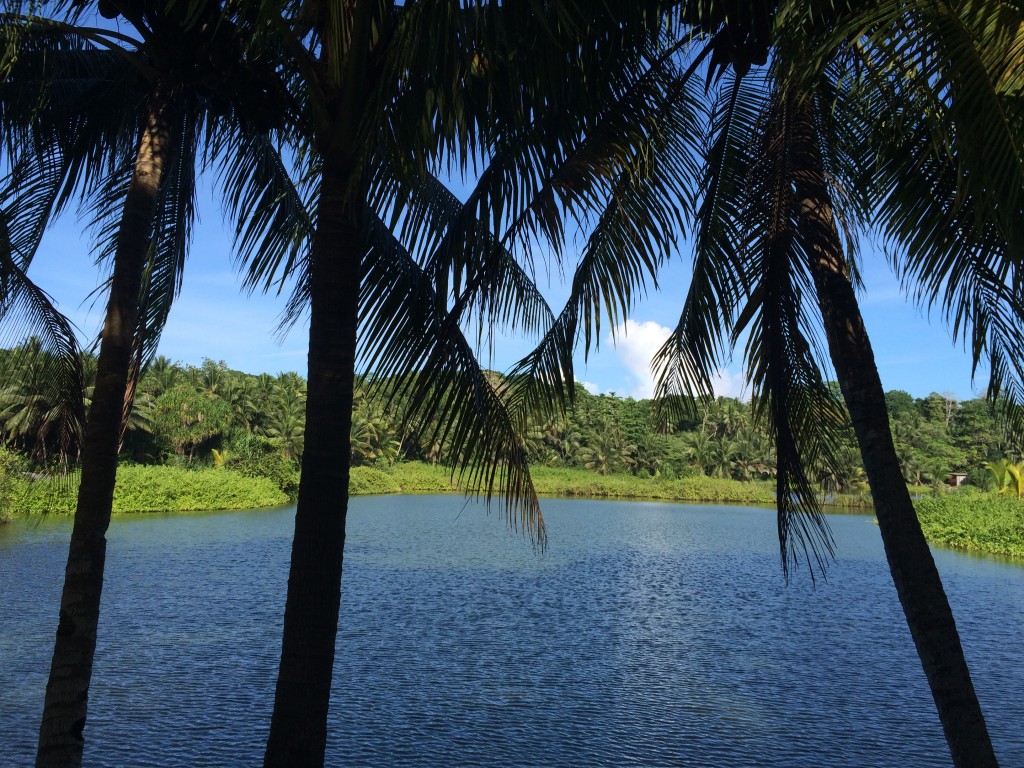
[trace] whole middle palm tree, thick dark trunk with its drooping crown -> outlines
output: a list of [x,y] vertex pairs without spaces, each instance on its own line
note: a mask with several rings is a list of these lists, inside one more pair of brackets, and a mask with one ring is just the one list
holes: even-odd
[[[602,232],[623,240],[589,249],[599,258],[588,260],[579,284],[592,300],[560,318],[551,317],[529,271],[506,247],[528,249],[538,238],[561,246],[562,214],[553,209],[582,210],[597,190],[631,194],[623,163],[594,157],[569,166],[562,152],[579,142],[581,129],[593,128],[565,120],[572,114],[565,108],[575,105],[569,97],[607,101],[628,85],[587,88],[587,73],[602,67],[635,73],[652,47],[641,51],[635,43],[660,34],[657,14],[646,15],[650,8],[612,5],[614,12],[558,3],[551,8],[557,24],[517,4],[452,12],[427,2],[349,0],[305,3],[300,13],[263,9],[295,56],[296,88],[307,106],[296,134],[306,142],[304,156],[315,159],[314,176],[294,191],[250,188],[230,201],[237,212],[269,201],[260,226],[239,230],[243,258],[255,264],[250,285],[280,285],[294,268],[299,289],[292,308],[308,308],[310,319],[302,485],[267,765],[324,760],[357,330],[366,365],[381,374],[379,386],[408,402],[412,421],[429,425],[421,439],[450,443],[464,482],[488,498],[500,490],[508,519],[543,542],[518,435],[530,412],[553,411],[569,396],[575,330],[586,325],[592,338],[590,318],[605,299],[616,309],[628,306],[617,288],[601,298],[607,269],[614,276],[620,266],[628,268],[616,266],[612,254],[646,265],[656,258],[652,244],[668,239],[659,231],[666,222],[639,231],[628,225],[629,211],[643,201],[620,197],[608,206]],[[579,45],[581,31],[592,29],[602,32],[599,45]],[[544,55],[523,56],[521,41],[539,35],[553,44],[540,46]],[[552,72],[570,74],[580,87],[534,87],[559,82]],[[657,87],[639,88],[633,97]],[[605,117],[605,145],[615,135],[620,151],[635,157],[651,140],[645,128],[623,141],[621,115]],[[489,161],[463,205],[426,173],[441,158],[480,167]],[[544,159],[551,160],[549,172]],[[299,245],[274,260],[266,253],[281,242],[283,221]],[[635,233],[634,242],[624,237]],[[528,253],[522,258],[530,260]],[[502,387],[480,370],[463,335],[460,323],[471,313],[481,319],[481,337],[490,325],[546,333],[543,348]]]

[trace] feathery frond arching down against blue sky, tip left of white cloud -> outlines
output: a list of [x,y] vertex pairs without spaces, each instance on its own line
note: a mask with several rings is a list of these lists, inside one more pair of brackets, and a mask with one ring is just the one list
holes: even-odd
[[[599,346],[602,317],[612,328],[626,319],[635,296],[648,284],[656,286],[657,271],[684,230],[691,209],[688,189],[696,176],[692,145],[698,121],[691,108],[696,103],[691,76],[698,60],[699,55],[686,72],[664,62],[648,70],[643,82],[613,104],[607,120],[594,126],[527,207],[531,218],[558,222],[566,204],[569,211],[601,206],[588,222],[591,233],[563,309],[535,350],[513,369],[514,380],[522,376],[524,382],[544,382],[539,393],[524,392],[538,404],[537,394],[560,393],[563,382],[571,397],[570,350],[577,340],[582,337],[587,354]],[[687,106],[680,109],[680,103]],[[630,115],[634,134],[615,127],[620,121],[629,124]],[[613,134],[627,138],[614,144]],[[630,135],[635,143],[624,148],[630,146]],[[577,215],[583,225],[582,214]],[[521,226],[521,221],[513,221],[510,231]],[[544,228],[550,233],[562,226],[548,223]]]

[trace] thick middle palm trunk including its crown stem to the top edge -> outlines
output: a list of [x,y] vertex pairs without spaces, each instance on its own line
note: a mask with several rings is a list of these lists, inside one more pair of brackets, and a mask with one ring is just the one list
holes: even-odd
[[376,3],[344,0],[348,35],[321,30],[325,62],[343,61],[318,131],[323,159],[316,232],[309,254],[309,358],[302,476],[288,575],[281,667],[266,768],[318,768],[327,752],[327,717],[341,608],[348,514],[359,283],[367,248],[369,180],[356,155],[367,116]]

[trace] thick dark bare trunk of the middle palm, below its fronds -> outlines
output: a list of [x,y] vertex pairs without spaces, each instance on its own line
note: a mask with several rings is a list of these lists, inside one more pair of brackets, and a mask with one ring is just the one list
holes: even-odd
[[324,172],[310,254],[302,482],[265,766],[324,765],[348,511],[349,433],[365,233],[345,175]]

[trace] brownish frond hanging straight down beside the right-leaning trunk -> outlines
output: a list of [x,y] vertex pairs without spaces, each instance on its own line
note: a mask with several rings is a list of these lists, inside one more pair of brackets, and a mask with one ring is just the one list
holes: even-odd
[[750,329],[744,356],[755,413],[775,443],[783,569],[803,559],[823,573],[834,554],[833,540],[806,468],[838,466],[838,437],[846,419],[821,375],[820,333],[805,310],[805,297],[814,294],[805,259],[831,243],[815,230],[824,223],[807,211],[811,180],[819,185],[815,200],[827,200],[827,187],[819,181],[824,174],[813,115],[810,99],[777,86],[773,90],[744,212],[744,270],[756,283],[734,339]]

